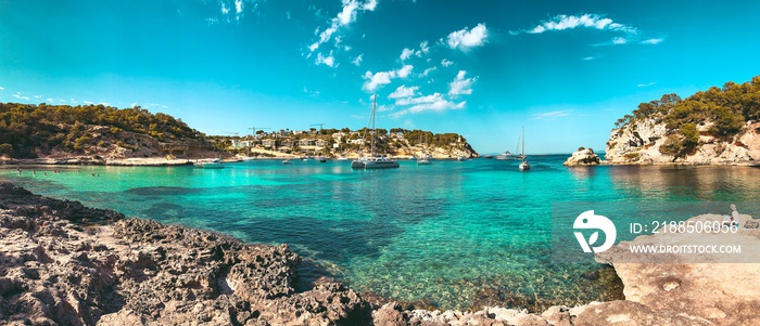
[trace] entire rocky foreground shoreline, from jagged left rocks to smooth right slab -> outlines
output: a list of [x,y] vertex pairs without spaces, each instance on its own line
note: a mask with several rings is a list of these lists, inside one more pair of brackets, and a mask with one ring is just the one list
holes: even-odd
[[[757,227],[746,219],[747,227]],[[757,247],[760,230],[743,232]],[[712,279],[724,287],[704,287],[723,276],[706,273],[715,264],[701,264],[697,275],[685,272],[695,266],[621,264],[607,257],[626,300],[541,314],[495,307],[415,310],[329,278],[296,291],[301,259],[287,245],[245,245],[125,219],[10,183],[0,184],[0,324],[10,325],[760,325],[757,264],[744,266],[742,277]],[[723,263],[713,272],[733,268]],[[680,286],[663,290],[662,277]],[[725,291],[736,287],[748,290]]]

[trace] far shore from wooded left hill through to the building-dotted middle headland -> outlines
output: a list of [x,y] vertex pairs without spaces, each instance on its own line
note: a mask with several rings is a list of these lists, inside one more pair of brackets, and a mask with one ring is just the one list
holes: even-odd
[[[242,138],[207,138],[179,119],[139,106],[119,109],[104,105],[0,103],[0,158],[4,160],[163,165],[229,156],[227,152],[240,156],[358,157],[369,154],[369,130],[349,128],[270,133],[259,130]],[[391,156],[478,157],[467,140],[456,133],[378,129],[376,140],[376,152]]]

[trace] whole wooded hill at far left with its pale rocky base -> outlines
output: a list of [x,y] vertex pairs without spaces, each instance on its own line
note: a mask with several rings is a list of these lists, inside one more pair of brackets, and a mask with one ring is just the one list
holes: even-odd
[[203,133],[181,120],[139,106],[0,103],[0,156],[7,159],[104,162],[213,149]]

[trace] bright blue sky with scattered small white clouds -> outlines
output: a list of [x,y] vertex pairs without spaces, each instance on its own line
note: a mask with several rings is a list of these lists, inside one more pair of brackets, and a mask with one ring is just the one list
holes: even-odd
[[[207,134],[379,128],[603,149],[664,93],[760,75],[760,1],[0,0],[0,102],[140,105]],[[268,131],[269,129],[267,129]]]

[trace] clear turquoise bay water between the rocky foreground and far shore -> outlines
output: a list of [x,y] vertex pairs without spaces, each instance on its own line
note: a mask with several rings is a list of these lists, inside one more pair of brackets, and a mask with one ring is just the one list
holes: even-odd
[[[569,169],[561,166],[566,157],[533,156],[524,173],[518,161],[490,159],[367,171],[352,170],[350,161],[258,160],[221,170],[0,172],[35,193],[130,217],[287,243],[306,258],[306,281],[328,274],[360,291],[445,309],[484,301],[539,309],[619,297],[607,269],[550,262],[553,204],[760,199],[757,168]],[[594,273],[603,276],[588,276]]]

